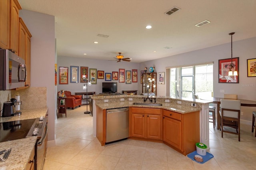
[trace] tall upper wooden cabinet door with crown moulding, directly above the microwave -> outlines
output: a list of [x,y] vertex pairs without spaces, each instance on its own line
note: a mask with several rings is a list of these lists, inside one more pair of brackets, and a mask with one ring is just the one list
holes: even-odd
[[18,55],[19,49],[19,10],[18,0],[10,0],[10,47]]

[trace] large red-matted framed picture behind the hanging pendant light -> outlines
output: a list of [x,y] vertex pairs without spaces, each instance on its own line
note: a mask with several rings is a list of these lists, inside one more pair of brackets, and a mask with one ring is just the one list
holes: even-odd
[[231,58],[228,59],[219,59],[219,83],[238,83],[239,81],[239,57],[232,59],[232,64],[234,65],[234,69],[232,71],[237,71],[238,75],[228,75],[228,71],[230,69]]

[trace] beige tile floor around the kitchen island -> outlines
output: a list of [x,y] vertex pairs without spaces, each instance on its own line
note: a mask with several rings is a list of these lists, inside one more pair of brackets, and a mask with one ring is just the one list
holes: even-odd
[[214,155],[198,164],[162,143],[123,140],[101,146],[92,136],[92,116],[86,106],[68,109],[55,125],[56,146],[48,147],[44,170],[255,170],[256,138],[251,126],[241,125],[238,136],[214,129],[210,123],[210,150]]

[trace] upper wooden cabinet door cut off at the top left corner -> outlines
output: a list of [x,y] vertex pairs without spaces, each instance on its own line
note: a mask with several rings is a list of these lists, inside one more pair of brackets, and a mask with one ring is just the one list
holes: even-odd
[[10,0],[0,0],[0,47],[10,45]]

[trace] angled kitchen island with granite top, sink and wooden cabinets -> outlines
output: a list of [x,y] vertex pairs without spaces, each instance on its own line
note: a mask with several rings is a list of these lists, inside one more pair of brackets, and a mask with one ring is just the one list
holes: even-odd
[[[172,126],[178,125],[175,128],[180,133],[180,142],[182,144],[178,144],[177,141],[171,141],[170,138],[166,138],[166,141],[173,142],[176,144],[177,147],[180,148],[180,151],[182,154],[187,154],[187,151],[184,150],[186,147],[186,141],[184,139],[188,138],[188,135],[190,135],[191,129],[194,129],[194,141],[196,142],[202,142],[209,146],[209,101],[203,101],[199,99],[186,99],[186,98],[172,98],[172,97],[165,97],[165,96],[154,96],[150,97],[148,99],[147,96],[143,95],[121,95],[121,96],[103,96],[103,97],[92,97],[93,99],[93,106],[94,106],[94,113],[93,113],[93,119],[94,119],[94,130],[95,130],[95,136],[98,138],[98,140],[101,142],[102,145],[105,143],[105,136],[106,136],[106,130],[104,127],[106,127],[106,110],[107,109],[116,109],[116,108],[122,108],[122,107],[129,107],[130,108],[130,117],[129,117],[129,138],[135,138],[138,137],[138,139],[143,140],[150,140],[152,141],[152,135],[150,134],[155,133],[156,136],[154,139],[158,142],[165,142],[164,138],[164,132],[162,132],[162,129],[168,129],[172,128]],[[145,101],[145,102],[144,102]],[[152,101],[152,102],[151,102]],[[158,103],[160,105],[150,105],[150,103]],[[134,104],[136,103],[136,104]],[[148,104],[148,105],[145,105]],[[138,109],[134,109],[138,108]],[[150,111],[150,109],[158,109],[158,113],[155,111]],[[133,111],[132,111],[133,110]],[[135,112],[134,112],[135,111]],[[138,115],[138,114],[139,115]],[[166,113],[166,114],[165,114]],[[170,114],[169,115],[167,115]],[[141,115],[141,117],[140,117]],[[147,118],[146,118],[147,117]],[[157,124],[158,126],[158,132],[154,132],[154,128],[147,128],[147,123],[150,122],[150,117],[154,117],[154,124]],[[164,120],[169,120],[173,118],[174,121],[162,121],[163,119],[160,118],[166,118]],[[136,119],[136,120],[135,120]],[[156,121],[158,119],[158,121]],[[151,119],[153,121],[153,119]],[[189,121],[191,120],[191,121]],[[192,121],[193,120],[193,121]],[[139,125],[134,124],[134,121],[140,122],[141,124],[145,125]],[[176,122],[179,121],[179,122]],[[173,122],[175,122],[173,124]],[[164,124],[168,123],[168,124]],[[191,129],[189,125],[191,126]],[[168,128],[163,127],[164,125],[169,126]],[[171,127],[170,127],[171,125]],[[148,125],[148,127],[151,127],[151,125]],[[135,132],[133,129],[142,129],[138,132]],[[137,133],[137,134],[136,134]],[[147,137],[151,135],[151,137]],[[187,136],[184,136],[187,135]],[[154,136],[154,135],[153,135]],[[190,136],[191,138],[193,135]],[[189,140],[189,139],[188,139]],[[194,142],[193,141],[193,142]],[[190,145],[192,146],[192,145]],[[195,148],[195,143],[193,143],[193,147]]]

